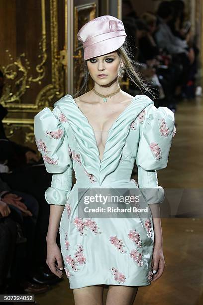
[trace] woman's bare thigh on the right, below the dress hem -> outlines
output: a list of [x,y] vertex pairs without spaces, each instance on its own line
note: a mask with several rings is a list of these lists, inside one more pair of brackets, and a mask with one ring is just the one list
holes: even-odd
[[132,305],[137,291],[137,286],[109,285],[106,305]]

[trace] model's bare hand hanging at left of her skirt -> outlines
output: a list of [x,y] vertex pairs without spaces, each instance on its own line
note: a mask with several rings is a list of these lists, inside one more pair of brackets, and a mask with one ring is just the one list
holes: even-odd
[[[57,261],[57,265],[55,264],[55,261]],[[57,246],[56,242],[54,243],[47,242],[46,263],[53,274],[55,274],[59,278],[62,278],[63,273],[62,271],[59,270],[60,268],[63,270],[62,256],[61,256],[61,251]]]

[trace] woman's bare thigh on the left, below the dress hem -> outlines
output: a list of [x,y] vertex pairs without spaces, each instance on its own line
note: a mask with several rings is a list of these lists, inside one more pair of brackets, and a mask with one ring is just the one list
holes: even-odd
[[103,305],[103,285],[73,289],[75,305]]

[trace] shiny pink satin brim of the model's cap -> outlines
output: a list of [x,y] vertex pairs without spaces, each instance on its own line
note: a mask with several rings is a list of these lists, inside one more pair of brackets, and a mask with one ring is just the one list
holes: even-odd
[[84,49],[84,59],[88,60],[117,50],[123,45],[125,38],[125,35],[113,37],[87,46]]

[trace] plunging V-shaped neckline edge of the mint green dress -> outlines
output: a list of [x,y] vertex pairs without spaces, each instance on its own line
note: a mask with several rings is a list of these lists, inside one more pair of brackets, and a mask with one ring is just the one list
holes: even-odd
[[[72,96],[71,96],[72,97]],[[135,96],[136,97],[136,96]],[[96,140],[96,137],[95,137],[95,131],[92,127],[92,125],[90,124],[88,118],[86,117],[86,115],[82,112],[82,110],[79,108],[78,104],[76,103],[76,101],[74,100],[74,98],[72,97],[73,99],[73,102],[74,104],[77,106],[77,109],[80,111],[81,115],[84,117],[84,119],[86,120],[88,126],[90,127],[91,131],[92,131],[92,135],[93,135],[93,139],[94,139],[94,142],[95,142],[95,145],[96,145],[96,148],[97,148],[97,152],[98,152],[98,158],[99,158],[99,161],[100,161],[100,167],[101,167],[101,164],[102,164],[102,161],[103,161],[103,158],[104,158],[104,154],[105,154],[105,151],[106,151],[106,144],[109,140],[109,134],[111,132],[111,130],[114,128],[114,125],[116,124],[116,122],[120,119],[120,117],[127,111],[127,109],[132,105],[135,97],[132,98],[132,100],[130,101],[130,103],[125,107],[125,109],[119,114],[119,116],[117,117],[117,119],[112,123],[110,129],[108,130],[108,136],[107,136],[107,139],[106,139],[106,142],[105,142],[105,146],[104,146],[104,150],[103,150],[103,156],[102,156],[102,160],[100,159],[100,150],[98,148],[98,144],[97,144],[97,140]]]

